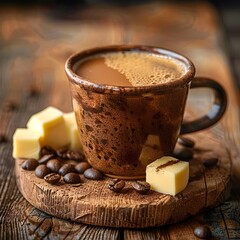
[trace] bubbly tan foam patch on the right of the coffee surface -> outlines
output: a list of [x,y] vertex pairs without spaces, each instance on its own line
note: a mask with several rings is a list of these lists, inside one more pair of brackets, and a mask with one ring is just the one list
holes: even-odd
[[145,52],[117,52],[102,55],[105,64],[125,75],[133,86],[176,80],[185,73],[183,64],[172,58]]

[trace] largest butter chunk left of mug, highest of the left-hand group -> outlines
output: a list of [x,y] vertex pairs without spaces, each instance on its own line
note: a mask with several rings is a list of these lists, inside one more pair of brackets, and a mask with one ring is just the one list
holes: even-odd
[[57,108],[50,106],[32,115],[27,127],[40,133],[41,146],[51,146],[57,149],[70,142],[63,113]]

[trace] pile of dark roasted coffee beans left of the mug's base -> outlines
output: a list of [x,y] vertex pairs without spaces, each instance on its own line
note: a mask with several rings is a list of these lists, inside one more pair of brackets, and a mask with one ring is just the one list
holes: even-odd
[[38,178],[49,184],[57,184],[63,178],[65,183],[78,184],[82,182],[80,174],[91,180],[100,180],[103,174],[86,162],[82,153],[61,148],[54,150],[49,146],[41,148],[40,158],[26,159],[22,168],[35,171]]

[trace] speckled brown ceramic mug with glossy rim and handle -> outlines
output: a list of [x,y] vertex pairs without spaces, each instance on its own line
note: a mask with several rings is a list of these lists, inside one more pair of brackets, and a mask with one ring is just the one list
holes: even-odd
[[[140,52],[171,58],[184,73],[165,83],[144,86],[97,84],[76,74],[79,62],[99,54]],[[194,77],[195,67],[176,52],[149,46],[108,46],[79,52],[65,65],[83,150],[89,163],[108,176],[137,179],[146,165],[170,155],[179,134],[208,128],[223,115],[224,89],[214,80]],[[99,78],[104,76],[99,76]],[[208,114],[183,123],[189,88],[210,88],[214,103]]]

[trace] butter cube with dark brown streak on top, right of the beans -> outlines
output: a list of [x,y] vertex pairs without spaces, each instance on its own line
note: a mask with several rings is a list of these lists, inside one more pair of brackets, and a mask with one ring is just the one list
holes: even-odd
[[188,184],[189,163],[165,156],[149,164],[146,168],[146,181],[151,189],[175,196]]

